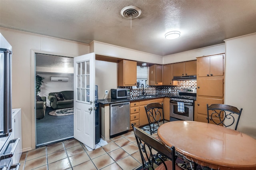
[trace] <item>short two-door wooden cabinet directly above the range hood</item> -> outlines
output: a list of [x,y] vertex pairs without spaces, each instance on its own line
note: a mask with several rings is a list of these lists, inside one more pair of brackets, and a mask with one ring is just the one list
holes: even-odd
[[172,64],[173,76],[196,75],[196,60]]

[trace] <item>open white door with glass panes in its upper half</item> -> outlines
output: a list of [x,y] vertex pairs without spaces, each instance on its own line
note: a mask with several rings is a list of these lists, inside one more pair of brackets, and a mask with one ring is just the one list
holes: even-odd
[[74,138],[95,148],[95,53],[74,58]]

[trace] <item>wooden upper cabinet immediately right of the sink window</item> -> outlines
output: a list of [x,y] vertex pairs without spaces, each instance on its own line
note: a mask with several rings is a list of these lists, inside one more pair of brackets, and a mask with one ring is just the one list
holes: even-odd
[[154,64],[149,67],[149,85],[162,85],[162,65]]

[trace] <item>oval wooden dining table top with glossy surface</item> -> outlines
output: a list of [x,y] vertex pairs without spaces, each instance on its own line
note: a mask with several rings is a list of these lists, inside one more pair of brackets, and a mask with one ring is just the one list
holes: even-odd
[[158,128],[166,146],[187,159],[213,169],[256,170],[256,139],[218,125],[173,121]]

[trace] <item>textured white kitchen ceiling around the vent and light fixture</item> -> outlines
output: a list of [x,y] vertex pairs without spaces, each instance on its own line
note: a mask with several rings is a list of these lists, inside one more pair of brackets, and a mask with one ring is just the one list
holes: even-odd
[[[132,24],[120,14],[131,5]],[[164,56],[256,32],[256,0],[0,0],[0,26]]]

